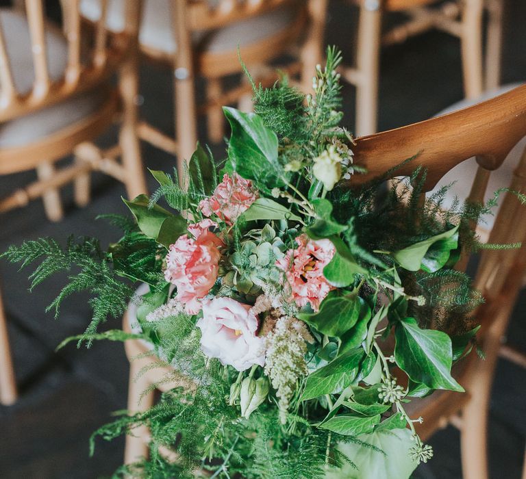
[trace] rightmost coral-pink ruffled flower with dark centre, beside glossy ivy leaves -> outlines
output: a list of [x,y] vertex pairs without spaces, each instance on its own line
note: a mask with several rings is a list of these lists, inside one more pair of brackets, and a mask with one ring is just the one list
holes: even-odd
[[296,304],[303,307],[310,303],[318,311],[323,298],[334,289],[323,276],[323,268],[334,256],[334,245],[329,239],[314,241],[307,235],[298,236],[296,242],[298,248],[288,250],[276,266],[284,270]]

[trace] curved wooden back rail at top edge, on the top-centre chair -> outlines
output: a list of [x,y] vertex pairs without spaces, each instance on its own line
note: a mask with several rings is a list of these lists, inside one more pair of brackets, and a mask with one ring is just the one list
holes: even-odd
[[189,0],[187,18],[191,30],[208,30],[288,3],[298,3],[298,0]]

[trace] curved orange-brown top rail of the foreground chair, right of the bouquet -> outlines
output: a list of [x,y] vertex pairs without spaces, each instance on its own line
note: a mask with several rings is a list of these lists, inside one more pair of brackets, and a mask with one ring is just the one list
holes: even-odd
[[417,166],[427,168],[425,190],[462,161],[477,157],[485,170],[496,170],[526,136],[526,85],[472,107],[356,140],[354,162],[366,168],[348,185],[380,177],[408,158],[392,177],[408,176]]

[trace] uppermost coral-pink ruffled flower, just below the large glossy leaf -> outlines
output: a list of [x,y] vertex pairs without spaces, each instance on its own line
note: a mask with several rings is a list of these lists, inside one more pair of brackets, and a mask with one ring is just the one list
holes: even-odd
[[216,214],[225,223],[232,224],[250,205],[258,199],[258,191],[252,182],[233,173],[225,174],[210,198],[199,202],[199,209],[205,216]]

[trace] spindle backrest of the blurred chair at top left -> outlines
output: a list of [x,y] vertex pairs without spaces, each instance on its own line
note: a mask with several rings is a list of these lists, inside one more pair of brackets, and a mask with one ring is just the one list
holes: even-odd
[[90,45],[82,42],[79,0],[61,0],[63,33],[47,21],[43,3],[25,0],[25,13],[0,10],[0,122],[95,88],[114,73],[136,38],[139,0],[125,1],[125,31],[113,36],[105,22],[108,0],[101,0],[103,14]]

